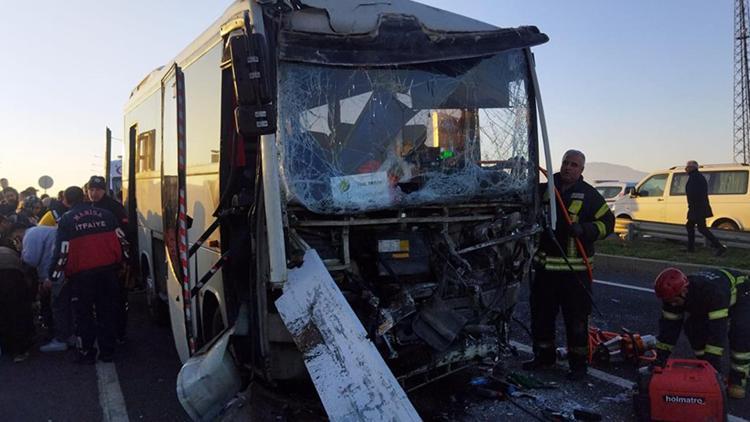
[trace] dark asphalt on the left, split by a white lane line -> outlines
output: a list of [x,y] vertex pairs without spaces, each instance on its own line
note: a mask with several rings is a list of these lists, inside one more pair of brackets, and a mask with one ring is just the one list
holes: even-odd
[[[170,329],[147,320],[142,294],[131,295],[129,324],[128,343],[118,349],[114,363],[127,416],[131,421],[189,420],[175,393],[180,362]],[[103,420],[101,375],[96,366],[75,364],[73,358],[73,351],[35,349],[22,363],[0,357],[0,420]]]

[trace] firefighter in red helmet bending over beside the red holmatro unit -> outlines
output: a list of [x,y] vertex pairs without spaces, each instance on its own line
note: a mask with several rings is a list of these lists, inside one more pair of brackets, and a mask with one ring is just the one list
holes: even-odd
[[663,301],[655,364],[664,366],[684,325],[695,356],[721,371],[729,337],[727,393],[731,398],[744,398],[750,370],[748,276],[721,269],[686,276],[676,268],[667,268],[656,277],[654,292]]

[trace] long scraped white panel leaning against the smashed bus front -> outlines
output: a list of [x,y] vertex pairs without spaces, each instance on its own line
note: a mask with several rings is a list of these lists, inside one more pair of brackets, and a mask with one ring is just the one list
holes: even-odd
[[315,250],[276,308],[332,421],[421,420]]

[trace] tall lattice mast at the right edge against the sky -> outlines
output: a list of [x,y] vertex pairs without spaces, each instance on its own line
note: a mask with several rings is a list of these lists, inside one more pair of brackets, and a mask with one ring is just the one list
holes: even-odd
[[734,2],[734,161],[750,161],[750,72],[747,57],[747,0]]

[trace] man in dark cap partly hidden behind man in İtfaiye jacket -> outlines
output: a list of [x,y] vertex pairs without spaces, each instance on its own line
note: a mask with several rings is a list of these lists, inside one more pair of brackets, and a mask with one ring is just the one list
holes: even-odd
[[[121,203],[107,195],[107,181],[102,176],[91,176],[86,184],[91,205],[111,212],[117,218],[117,225],[123,233],[128,233],[128,213]],[[130,240],[130,239],[128,239]],[[115,325],[117,327],[117,342],[125,343],[128,326],[128,273],[122,271],[118,274],[120,283],[117,295],[117,311],[115,314]]]

